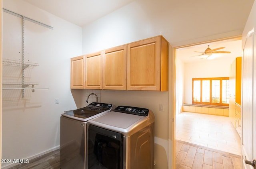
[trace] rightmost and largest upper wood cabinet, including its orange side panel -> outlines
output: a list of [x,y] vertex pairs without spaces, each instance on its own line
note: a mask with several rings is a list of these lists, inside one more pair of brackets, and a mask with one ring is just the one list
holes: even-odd
[[168,90],[168,42],[162,36],[127,45],[127,90]]

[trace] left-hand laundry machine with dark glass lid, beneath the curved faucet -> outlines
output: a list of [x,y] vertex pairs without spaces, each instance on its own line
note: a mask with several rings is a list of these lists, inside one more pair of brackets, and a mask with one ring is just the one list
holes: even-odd
[[60,116],[60,168],[85,169],[87,121],[110,112],[112,104],[93,102]]

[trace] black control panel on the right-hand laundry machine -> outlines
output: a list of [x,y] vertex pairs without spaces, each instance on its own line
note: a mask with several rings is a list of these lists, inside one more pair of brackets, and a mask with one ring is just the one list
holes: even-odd
[[147,108],[131,107],[131,106],[118,106],[113,111],[134,114],[138,116],[148,116],[149,110]]

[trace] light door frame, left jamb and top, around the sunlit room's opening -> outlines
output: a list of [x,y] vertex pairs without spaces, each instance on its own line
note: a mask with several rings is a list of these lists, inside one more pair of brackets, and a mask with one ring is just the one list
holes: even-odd
[[[171,52],[169,52],[169,124],[168,124],[168,131],[169,132],[169,141],[168,141],[168,169],[175,169],[176,168],[176,50],[184,47],[192,47],[195,45],[202,45],[205,43],[214,43],[218,41],[235,41],[241,40],[242,35],[226,37],[221,39],[203,41],[198,43],[191,43],[188,45],[182,45],[178,47],[172,47]],[[241,46],[242,48],[242,46]],[[172,92],[173,91],[173,92]],[[242,153],[242,152],[241,152]]]

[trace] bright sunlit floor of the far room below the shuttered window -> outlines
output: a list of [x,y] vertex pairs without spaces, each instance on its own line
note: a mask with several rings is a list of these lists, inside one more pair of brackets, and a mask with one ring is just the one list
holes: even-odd
[[176,116],[176,140],[240,155],[241,139],[229,117],[182,112]]

